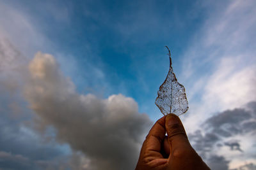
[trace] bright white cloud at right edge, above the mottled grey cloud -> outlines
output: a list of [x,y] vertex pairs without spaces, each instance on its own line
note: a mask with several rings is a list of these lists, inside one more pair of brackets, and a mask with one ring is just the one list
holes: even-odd
[[[255,101],[256,64],[239,69],[243,59],[225,57],[205,85],[203,101],[211,111],[233,109]],[[220,110],[219,110],[220,111]]]

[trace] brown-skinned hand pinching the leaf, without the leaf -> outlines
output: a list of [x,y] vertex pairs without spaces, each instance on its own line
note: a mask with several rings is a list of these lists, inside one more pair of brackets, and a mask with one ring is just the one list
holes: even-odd
[[135,170],[168,169],[209,170],[190,145],[180,118],[174,114],[160,118],[150,129]]

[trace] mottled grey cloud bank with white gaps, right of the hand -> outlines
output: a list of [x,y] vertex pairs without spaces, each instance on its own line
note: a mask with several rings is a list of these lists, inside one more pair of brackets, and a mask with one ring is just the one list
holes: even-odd
[[218,113],[205,120],[200,129],[188,134],[191,145],[211,169],[228,169],[234,167],[234,162],[241,165],[246,160],[256,162],[252,153],[255,152],[255,106],[253,101],[244,108]]

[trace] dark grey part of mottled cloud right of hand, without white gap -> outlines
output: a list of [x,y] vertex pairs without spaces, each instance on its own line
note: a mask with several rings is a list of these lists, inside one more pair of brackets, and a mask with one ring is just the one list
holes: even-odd
[[244,152],[240,141],[232,137],[246,133],[255,135],[255,108],[256,102],[250,102],[245,108],[223,111],[205,120],[202,129],[188,134],[191,145],[211,169],[228,169],[229,163],[228,158],[213,153],[213,148],[229,147],[232,152]]

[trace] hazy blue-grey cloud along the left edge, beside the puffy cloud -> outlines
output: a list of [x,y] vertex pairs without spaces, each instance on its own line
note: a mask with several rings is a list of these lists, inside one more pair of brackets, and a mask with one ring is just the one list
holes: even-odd
[[79,169],[76,153],[54,140],[45,143],[26,126],[33,117],[22,97],[26,61],[0,34],[0,169]]

